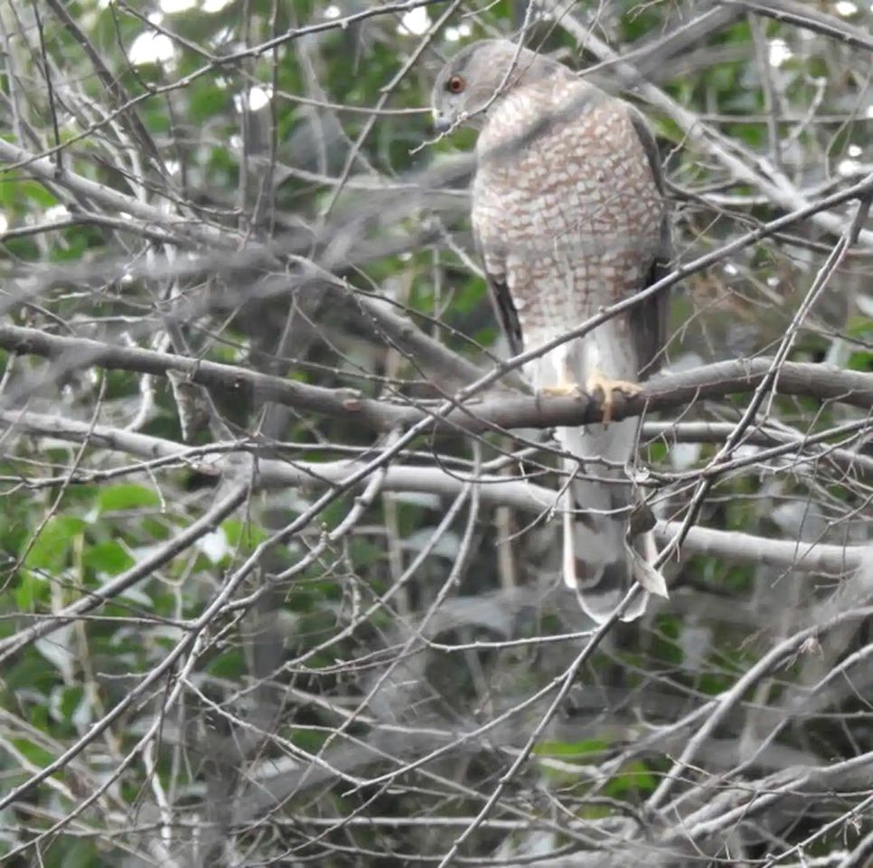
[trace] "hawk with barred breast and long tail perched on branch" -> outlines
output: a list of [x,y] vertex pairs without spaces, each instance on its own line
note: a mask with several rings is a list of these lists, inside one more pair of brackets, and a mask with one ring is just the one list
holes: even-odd
[[[476,145],[472,222],[512,352],[566,334],[665,273],[672,256],[661,163],[645,120],[558,61],[504,40],[466,46],[433,91],[436,129],[467,124]],[[650,528],[631,522],[624,466],[633,419],[609,423],[613,390],[634,394],[657,367],[668,298],[657,293],[526,365],[540,392],[602,393],[604,424],[561,428],[572,475],[563,575],[603,621],[632,580],[664,592]],[[643,610],[638,594],[625,619]]]

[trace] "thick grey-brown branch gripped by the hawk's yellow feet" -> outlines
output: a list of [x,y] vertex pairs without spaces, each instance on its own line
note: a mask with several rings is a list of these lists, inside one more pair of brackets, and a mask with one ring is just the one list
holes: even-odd
[[[376,429],[408,427],[426,419],[428,405],[399,405],[361,398],[351,389],[325,389],[231,364],[207,362],[136,347],[102,344],[87,338],[48,335],[38,329],[0,325],[0,347],[18,354],[62,361],[64,373],[91,365],[166,376],[174,371],[191,382],[230,392],[246,391],[260,401],[276,401],[297,410],[360,420]],[[681,373],[665,373],[643,384],[632,398],[615,392],[613,418],[687,407],[697,401],[752,392],[770,368],[766,358],[701,365]],[[863,410],[873,406],[873,374],[845,371],[824,364],[785,363],[774,391],[818,401],[839,401]],[[491,393],[437,420],[437,429],[481,433],[490,429],[552,428],[585,425],[603,419],[601,401],[580,394],[555,397]]]

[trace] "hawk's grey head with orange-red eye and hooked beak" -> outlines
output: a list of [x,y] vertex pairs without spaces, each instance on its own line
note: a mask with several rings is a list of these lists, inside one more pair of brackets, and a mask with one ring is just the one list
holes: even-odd
[[488,109],[507,90],[548,74],[553,65],[504,39],[467,45],[436,76],[431,99],[436,131],[444,133],[462,123],[483,127]]

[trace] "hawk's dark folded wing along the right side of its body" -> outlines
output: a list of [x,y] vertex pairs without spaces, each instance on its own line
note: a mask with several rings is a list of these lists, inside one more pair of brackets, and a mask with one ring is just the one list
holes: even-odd
[[[646,159],[652,169],[652,176],[659,192],[664,196],[664,178],[661,167],[661,156],[655,143],[652,130],[643,115],[633,107],[628,107],[634,132],[643,145]],[[664,199],[666,202],[666,197]],[[646,275],[641,289],[651,287],[653,283],[670,273],[673,259],[673,243],[670,229],[670,215],[664,208],[661,224],[661,245],[652,262],[652,268]],[[667,317],[670,308],[670,290],[662,289],[654,296],[634,306],[628,316],[631,335],[636,346],[637,363],[640,366],[641,377],[655,373],[662,363],[662,349],[667,343]]]

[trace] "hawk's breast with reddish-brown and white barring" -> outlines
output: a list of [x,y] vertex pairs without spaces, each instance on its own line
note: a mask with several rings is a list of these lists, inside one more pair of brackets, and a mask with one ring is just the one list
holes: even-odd
[[525,332],[566,330],[642,288],[664,206],[623,103],[569,116],[503,99],[477,154],[474,228],[485,258],[502,260]]

